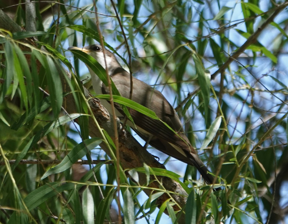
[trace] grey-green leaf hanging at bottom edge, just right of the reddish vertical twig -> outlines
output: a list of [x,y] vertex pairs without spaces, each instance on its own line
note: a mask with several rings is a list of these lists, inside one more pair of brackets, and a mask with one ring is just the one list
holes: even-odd
[[132,198],[132,194],[129,189],[126,189],[124,192],[124,206],[123,206],[123,214],[125,223],[135,223],[134,218],[134,201]]

